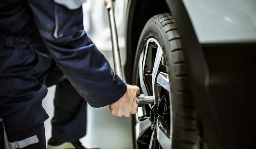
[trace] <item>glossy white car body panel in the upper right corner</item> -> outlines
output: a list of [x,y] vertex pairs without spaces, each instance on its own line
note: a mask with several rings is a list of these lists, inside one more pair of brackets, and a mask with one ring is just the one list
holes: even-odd
[[256,41],[255,0],[183,0],[200,43]]

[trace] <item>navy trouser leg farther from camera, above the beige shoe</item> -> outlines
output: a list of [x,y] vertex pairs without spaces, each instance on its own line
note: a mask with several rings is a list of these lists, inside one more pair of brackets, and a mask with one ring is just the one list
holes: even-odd
[[56,86],[52,119],[52,139],[58,142],[79,140],[86,134],[87,102],[68,79]]

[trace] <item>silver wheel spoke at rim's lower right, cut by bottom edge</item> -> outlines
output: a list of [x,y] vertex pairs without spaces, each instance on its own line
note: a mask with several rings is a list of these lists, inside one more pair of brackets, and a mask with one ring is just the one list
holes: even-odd
[[[163,127],[163,125],[165,125],[164,122],[162,122],[160,120],[160,118],[157,118],[156,119],[156,133],[157,133],[157,139],[159,141],[159,144],[161,145],[161,147],[163,149],[170,149],[171,147],[171,136],[170,136],[170,132],[167,133],[166,131],[166,128]],[[169,134],[167,136],[167,134]]]

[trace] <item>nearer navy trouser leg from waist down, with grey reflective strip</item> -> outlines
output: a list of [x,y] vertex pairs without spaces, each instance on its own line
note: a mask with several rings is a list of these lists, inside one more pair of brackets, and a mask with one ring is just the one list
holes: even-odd
[[[30,43],[33,39],[36,44]],[[39,52],[47,51],[44,43],[21,36],[1,38],[0,45],[0,148],[4,138],[11,149],[46,149],[48,115],[42,100],[47,87],[38,81],[50,65],[47,53]]]

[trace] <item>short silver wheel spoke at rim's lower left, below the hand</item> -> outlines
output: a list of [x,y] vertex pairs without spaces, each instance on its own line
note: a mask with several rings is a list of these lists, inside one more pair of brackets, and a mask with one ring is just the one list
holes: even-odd
[[150,122],[150,119],[147,118],[143,121],[139,121],[137,124],[136,124],[136,139],[138,139],[140,136],[143,135],[143,133],[148,129],[150,128],[151,126],[151,122]]

